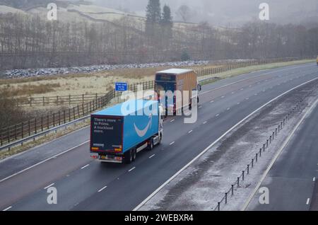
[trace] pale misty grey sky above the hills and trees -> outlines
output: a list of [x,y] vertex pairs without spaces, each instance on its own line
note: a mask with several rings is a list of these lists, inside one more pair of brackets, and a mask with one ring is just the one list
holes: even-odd
[[[90,0],[95,4],[121,8],[144,16],[148,0]],[[172,8],[172,16],[180,21],[175,11],[182,4],[192,8],[190,22],[208,21],[214,25],[236,25],[251,21],[259,15],[259,4],[270,6],[270,17],[277,23],[315,21],[318,17],[318,0],[160,0],[161,5]]]

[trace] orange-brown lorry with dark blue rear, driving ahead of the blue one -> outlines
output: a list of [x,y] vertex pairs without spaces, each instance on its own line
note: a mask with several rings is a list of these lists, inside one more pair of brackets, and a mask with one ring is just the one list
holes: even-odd
[[[165,96],[160,95],[165,91]],[[181,93],[181,98],[177,98],[177,91]],[[188,91],[188,95],[184,95]],[[197,98],[201,86],[197,81],[197,74],[192,69],[167,69],[158,71],[155,74],[155,93],[158,100],[165,107],[167,115],[180,115],[182,109],[192,107],[192,98]],[[171,96],[171,93],[174,93]],[[184,100],[188,98],[188,100]]]

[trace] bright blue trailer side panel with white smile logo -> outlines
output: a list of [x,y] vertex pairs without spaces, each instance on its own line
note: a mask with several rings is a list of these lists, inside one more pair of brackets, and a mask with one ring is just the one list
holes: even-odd
[[150,110],[154,108],[153,115],[143,113],[139,110],[137,115],[126,115],[124,117],[124,149],[123,152],[128,151],[134,146],[145,142],[147,139],[158,134],[159,129],[159,115],[158,102],[153,102]]

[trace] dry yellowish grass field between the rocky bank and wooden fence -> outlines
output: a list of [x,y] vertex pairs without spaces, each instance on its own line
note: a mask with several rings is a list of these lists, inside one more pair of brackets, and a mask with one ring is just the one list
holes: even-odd
[[[209,67],[212,67],[211,65]],[[144,69],[114,69],[91,74],[68,74],[32,77],[27,79],[0,79],[0,93],[10,96],[47,97],[107,93],[114,88],[114,82],[139,83],[153,81],[155,72],[170,67]],[[187,67],[201,69],[203,67]]]

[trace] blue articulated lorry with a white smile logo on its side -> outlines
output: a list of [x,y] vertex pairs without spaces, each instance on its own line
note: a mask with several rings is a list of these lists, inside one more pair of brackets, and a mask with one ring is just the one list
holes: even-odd
[[135,161],[139,151],[160,144],[162,111],[158,101],[130,100],[92,114],[91,157],[110,163]]

